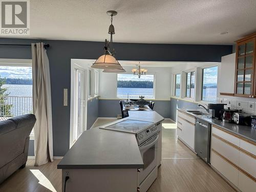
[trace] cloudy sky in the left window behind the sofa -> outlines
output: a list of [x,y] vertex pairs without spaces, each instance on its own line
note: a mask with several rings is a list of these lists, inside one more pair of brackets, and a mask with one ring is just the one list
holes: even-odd
[[1,78],[32,79],[32,67],[0,66]]

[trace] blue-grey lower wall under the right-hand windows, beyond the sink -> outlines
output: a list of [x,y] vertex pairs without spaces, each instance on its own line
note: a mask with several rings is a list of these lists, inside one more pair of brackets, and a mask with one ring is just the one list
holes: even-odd
[[198,109],[197,103],[184,101],[181,99],[170,98],[170,117],[176,121],[177,108],[186,108],[186,109]]

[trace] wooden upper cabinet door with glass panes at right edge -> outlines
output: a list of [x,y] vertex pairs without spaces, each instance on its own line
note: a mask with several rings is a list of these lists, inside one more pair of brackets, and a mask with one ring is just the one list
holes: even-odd
[[237,41],[234,95],[256,98],[256,33]]

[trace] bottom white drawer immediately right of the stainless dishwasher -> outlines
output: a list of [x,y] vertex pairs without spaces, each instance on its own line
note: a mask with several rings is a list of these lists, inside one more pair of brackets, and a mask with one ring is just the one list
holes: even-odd
[[224,177],[226,177],[235,186],[238,186],[239,170],[232,164],[227,162],[216,152],[211,150],[211,165],[216,168]]

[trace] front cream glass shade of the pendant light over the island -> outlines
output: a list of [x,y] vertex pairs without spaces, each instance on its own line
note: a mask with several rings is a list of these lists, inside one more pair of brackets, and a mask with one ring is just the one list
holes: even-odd
[[109,54],[101,55],[91,67],[96,69],[123,69],[115,57]]

